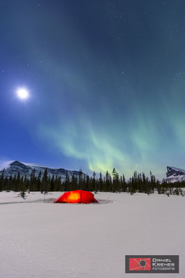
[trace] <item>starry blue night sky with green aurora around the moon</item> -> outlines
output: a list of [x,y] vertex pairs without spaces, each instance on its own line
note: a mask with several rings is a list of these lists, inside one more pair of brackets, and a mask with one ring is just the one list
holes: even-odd
[[184,0],[0,1],[1,163],[185,167],[184,15]]

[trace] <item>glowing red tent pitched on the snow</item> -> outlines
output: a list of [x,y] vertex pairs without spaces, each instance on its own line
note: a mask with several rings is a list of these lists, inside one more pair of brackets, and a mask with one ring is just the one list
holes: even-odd
[[94,194],[84,190],[73,190],[73,191],[65,192],[54,201],[54,203],[82,203],[82,204],[89,204],[94,202],[96,203],[98,202],[94,198]]

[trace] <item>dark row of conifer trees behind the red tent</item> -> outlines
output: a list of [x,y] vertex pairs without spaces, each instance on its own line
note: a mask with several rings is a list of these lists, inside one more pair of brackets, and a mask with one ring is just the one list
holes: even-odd
[[15,174],[14,177],[5,177],[4,171],[0,177],[0,191],[16,191],[21,192],[24,196],[26,191],[40,191],[41,193],[47,193],[49,191],[70,191],[70,190],[87,190],[94,192],[127,192],[133,195],[134,193],[146,193],[152,194],[157,191],[159,194],[169,195],[184,195],[181,188],[185,187],[185,181],[169,183],[165,181],[159,182],[155,176],[150,172],[150,177],[146,177],[144,173],[134,172],[133,176],[126,181],[125,175],[119,176],[115,168],[112,174],[107,171],[105,177],[100,174],[98,177],[94,172],[92,177],[88,174],[83,174],[80,170],[79,175],[73,174],[69,177],[66,174],[64,181],[61,177],[50,177],[48,175],[47,168],[44,170],[44,174],[40,172],[39,175],[35,175],[35,170],[30,174],[30,178],[21,176],[20,173]]

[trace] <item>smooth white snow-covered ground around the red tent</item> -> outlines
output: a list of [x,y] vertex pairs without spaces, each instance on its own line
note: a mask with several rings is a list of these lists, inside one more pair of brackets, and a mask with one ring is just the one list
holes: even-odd
[[[0,193],[0,277],[185,277],[185,197],[98,193],[99,204],[53,204],[61,194]],[[179,255],[180,273],[125,274],[126,254]]]

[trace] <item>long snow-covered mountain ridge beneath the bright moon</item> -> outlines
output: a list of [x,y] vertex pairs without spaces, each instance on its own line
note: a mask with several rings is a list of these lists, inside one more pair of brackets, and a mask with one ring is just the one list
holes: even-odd
[[[48,170],[49,176],[53,176],[54,174],[55,177],[60,176],[62,180],[65,179],[67,173],[69,174],[69,178],[71,178],[73,174],[75,174],[76,176],[79,175],[78,171],[69,171],[62,168],[50,168],[50,167],[46,167],[34,163],[24,163],[19,161],[10,161],[9,163],[6,164],[6,167],[3,167],[3,169],[5,170],[4,171],[5,177],[10,177],[10,174],[12,174],[13,177],[15,174],[18,174],[19,172],[21,176],[26,174],[28,178],[30,177],[30,173],[33,171],[33,169],[35,169],[35,176],[37,176],[39,172],[44,174],[44,170],[46,168]],[[3,172],[3,169],[0,170],[0,175]]]

